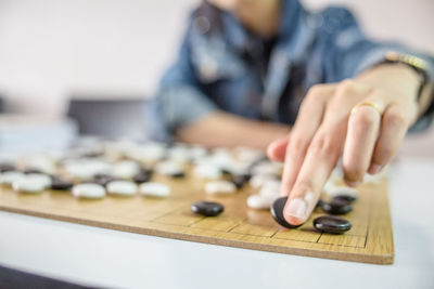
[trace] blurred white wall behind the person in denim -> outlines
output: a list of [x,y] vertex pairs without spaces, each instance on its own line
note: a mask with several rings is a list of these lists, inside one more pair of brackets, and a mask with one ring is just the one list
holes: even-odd
[[[0,0],[0,93],[59,115],[74,91],[149,95],[199,0]],[[370,35],[434,53],[433,0],[305,0],[354,6]]]

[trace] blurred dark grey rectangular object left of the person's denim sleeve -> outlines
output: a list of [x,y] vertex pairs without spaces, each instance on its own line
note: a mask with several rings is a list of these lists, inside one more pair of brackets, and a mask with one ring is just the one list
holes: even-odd
[[140,97],[103,100],[74,95],[67,116],[77,122],[80,134],[141,140],[145,135],[144,105]]

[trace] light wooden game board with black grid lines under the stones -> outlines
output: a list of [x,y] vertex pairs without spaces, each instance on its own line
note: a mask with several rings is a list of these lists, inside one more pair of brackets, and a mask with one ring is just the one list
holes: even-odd
[[[386,182],[362,185],[354,210],[345,216],[353,223],[353,228],[344,235],[328,235],[312,229],[311,220],[322,214],[319,209],[303,226],[288,229],[279,226],[269,211],[246,207],[245,199],[252,191],[248,186],[235,195],[207,196],[203,193],[203,181],[193,178],[155,179],[171,186],[169,198],[108,196],[100,200],[80,200],[68,193],[25,195],[1,187],[0,209],[111,229],[254,250],[376,264],[391,264],[394,261]],[[193,214],[190,205],[201,199],[224,203],[224,213],[214,218]]]

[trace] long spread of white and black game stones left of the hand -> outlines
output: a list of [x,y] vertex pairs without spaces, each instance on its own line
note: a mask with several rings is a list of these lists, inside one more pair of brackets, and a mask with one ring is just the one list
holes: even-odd
[[[98,141],[56,154],[27,156],[14,163],[3,162],[0,183],[27,194],[53,189],[67,191],[80,198],[138,193],[165,197],[170,188],[150,182],[152,174],[184,178],[186,168],[192,166],[192,176],[206,181],[205,193],[232,194],[251,180],[252,171],[253,185],[265,182],[266,173],[259,175],[267,167],[260,162],[264,159],[263,152],[244,147],[208,150],[184,144]],[[253,169],[258,163],[261,165]]]

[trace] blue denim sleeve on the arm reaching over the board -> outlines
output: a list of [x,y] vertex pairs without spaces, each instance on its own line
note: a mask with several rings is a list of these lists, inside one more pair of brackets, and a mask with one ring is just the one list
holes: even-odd
[[[354,15],[344,8],[329,8],[321,13],[322,25],[318,31],[315,51],[322,60],[321,70],[326,82],[337,82],[353,78],[385,58],[390,51],[407,53],[424,60],[427,64],[429,81],[434,84],[434,60],[393,42],[369,40],[361,31]],[[432,95],[434,98],[434,93]],[[427,111],[414,123],[411,131],[427,128],[434,115],[434,100]]]

